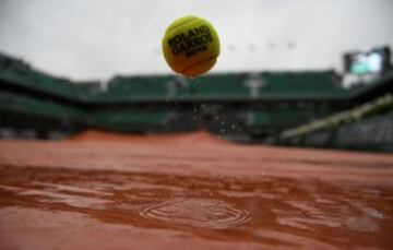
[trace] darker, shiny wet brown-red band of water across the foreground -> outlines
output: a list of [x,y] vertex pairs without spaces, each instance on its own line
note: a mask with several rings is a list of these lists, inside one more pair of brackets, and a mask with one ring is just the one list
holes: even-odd
[[2,207],[74,212],[105,224],[289,248],[392,247],[386,184],[8,166],[0,184]]

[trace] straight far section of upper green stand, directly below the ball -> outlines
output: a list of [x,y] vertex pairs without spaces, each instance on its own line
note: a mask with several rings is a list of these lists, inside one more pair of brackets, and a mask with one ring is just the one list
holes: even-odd
[[179,76],[118,76],[96,100],[301,99],[345,97],[332,71],[299,73],[213,74]]

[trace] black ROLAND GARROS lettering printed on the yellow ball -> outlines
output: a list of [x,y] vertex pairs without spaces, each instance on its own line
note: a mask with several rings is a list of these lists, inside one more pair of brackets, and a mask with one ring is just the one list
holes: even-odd
[[184,53],[186,57],[206,51],[210,43],[213,43],[213,36],[206,25],[190,28],[168,39],[171,53]]

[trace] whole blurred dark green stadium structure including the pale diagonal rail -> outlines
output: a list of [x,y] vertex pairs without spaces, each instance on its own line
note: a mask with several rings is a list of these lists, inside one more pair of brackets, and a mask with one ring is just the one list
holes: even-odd
[[393,151],[391,66],[349,85],[348,75],[261,71],[75,82],[2,53],[0,131],[2,138],[58,139],[86,129],[206,130],[239,142]]

